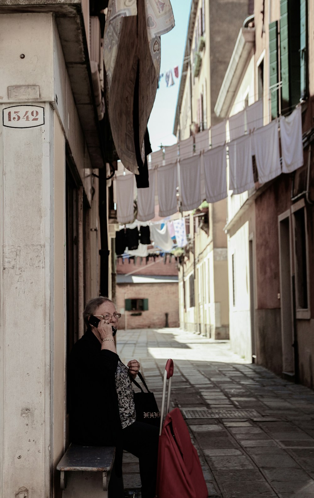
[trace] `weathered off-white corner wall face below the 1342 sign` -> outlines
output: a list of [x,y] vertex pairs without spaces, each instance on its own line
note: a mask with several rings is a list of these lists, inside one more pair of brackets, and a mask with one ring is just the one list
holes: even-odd
[[[1,34],[2,26],[0,16]],[[22,487],[46,497],[50,488],[52,142],[49,104],[42,126],[0,122],[3,498]]]

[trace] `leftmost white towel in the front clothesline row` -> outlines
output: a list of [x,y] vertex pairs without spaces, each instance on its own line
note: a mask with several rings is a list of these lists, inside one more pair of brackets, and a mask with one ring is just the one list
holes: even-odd
[[117,176],[115,181],[116,219],[119,223],[130,223],[134,219],[134,175],[132,173],[125,176]]

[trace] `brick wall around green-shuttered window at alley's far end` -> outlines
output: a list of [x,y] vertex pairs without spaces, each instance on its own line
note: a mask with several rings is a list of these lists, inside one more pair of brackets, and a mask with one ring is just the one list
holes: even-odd
[[[116,286],[117,310],[124,309],[124,299],[148,299],[148,310],[140,316],[127,313],[127,329],[161,328],[166,324],[165,313],[168,315],[169,327],[179,326],[179,288],[178,282],[118,284]],[[124,315],[119,320],[119,329],[125,327]]]

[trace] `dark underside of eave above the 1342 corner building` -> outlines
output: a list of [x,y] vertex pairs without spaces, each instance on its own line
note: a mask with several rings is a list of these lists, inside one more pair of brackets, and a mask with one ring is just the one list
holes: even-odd
[[0,14],[53,13],[93,168],[105,165],[81,0],[0,0]]

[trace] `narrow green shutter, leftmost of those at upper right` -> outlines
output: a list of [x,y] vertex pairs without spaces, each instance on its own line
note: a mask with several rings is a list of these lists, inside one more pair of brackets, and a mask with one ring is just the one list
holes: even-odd
[[278,21],[269,24],[269,86],[271,96],[272,119],[277,118],[279,112],[278,99]]

